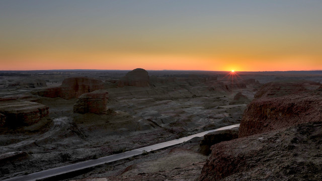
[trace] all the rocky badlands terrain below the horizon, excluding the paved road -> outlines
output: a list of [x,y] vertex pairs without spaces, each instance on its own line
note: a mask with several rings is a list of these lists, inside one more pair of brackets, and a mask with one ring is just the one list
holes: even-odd
[[1,71],[0,179],[240,123],[55,179],[319,180],[321,82],[322,71]]

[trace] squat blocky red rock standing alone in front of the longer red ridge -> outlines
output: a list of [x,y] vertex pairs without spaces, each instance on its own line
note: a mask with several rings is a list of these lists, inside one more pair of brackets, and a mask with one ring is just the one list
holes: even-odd
[[108,110],[107,101],[108,92],[104,90],[86,93],[77,99],[76,104],[73,106],[73,112],[105,114]]

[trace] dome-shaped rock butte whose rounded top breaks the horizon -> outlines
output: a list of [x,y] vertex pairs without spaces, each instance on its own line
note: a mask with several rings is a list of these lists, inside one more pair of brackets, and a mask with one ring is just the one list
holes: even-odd
[[130,72],[127,72],[124,77],[118,81],[118,86],[125,85],[146,87],[149,86],[149,75],[146,70],[142,68],[136,68]]

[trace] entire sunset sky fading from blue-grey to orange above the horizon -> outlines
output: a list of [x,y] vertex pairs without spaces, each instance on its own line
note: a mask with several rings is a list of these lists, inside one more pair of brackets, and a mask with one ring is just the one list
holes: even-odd
[[322,1],[0,1],[0,70],[321,70]]

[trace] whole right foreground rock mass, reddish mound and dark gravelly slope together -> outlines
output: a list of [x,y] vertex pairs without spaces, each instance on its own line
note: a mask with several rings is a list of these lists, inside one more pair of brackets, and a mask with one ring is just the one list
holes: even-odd
[[319,88],[259,97],[244,113],[239,138],[211,147],[198,180],[320,180],[321,143]]

